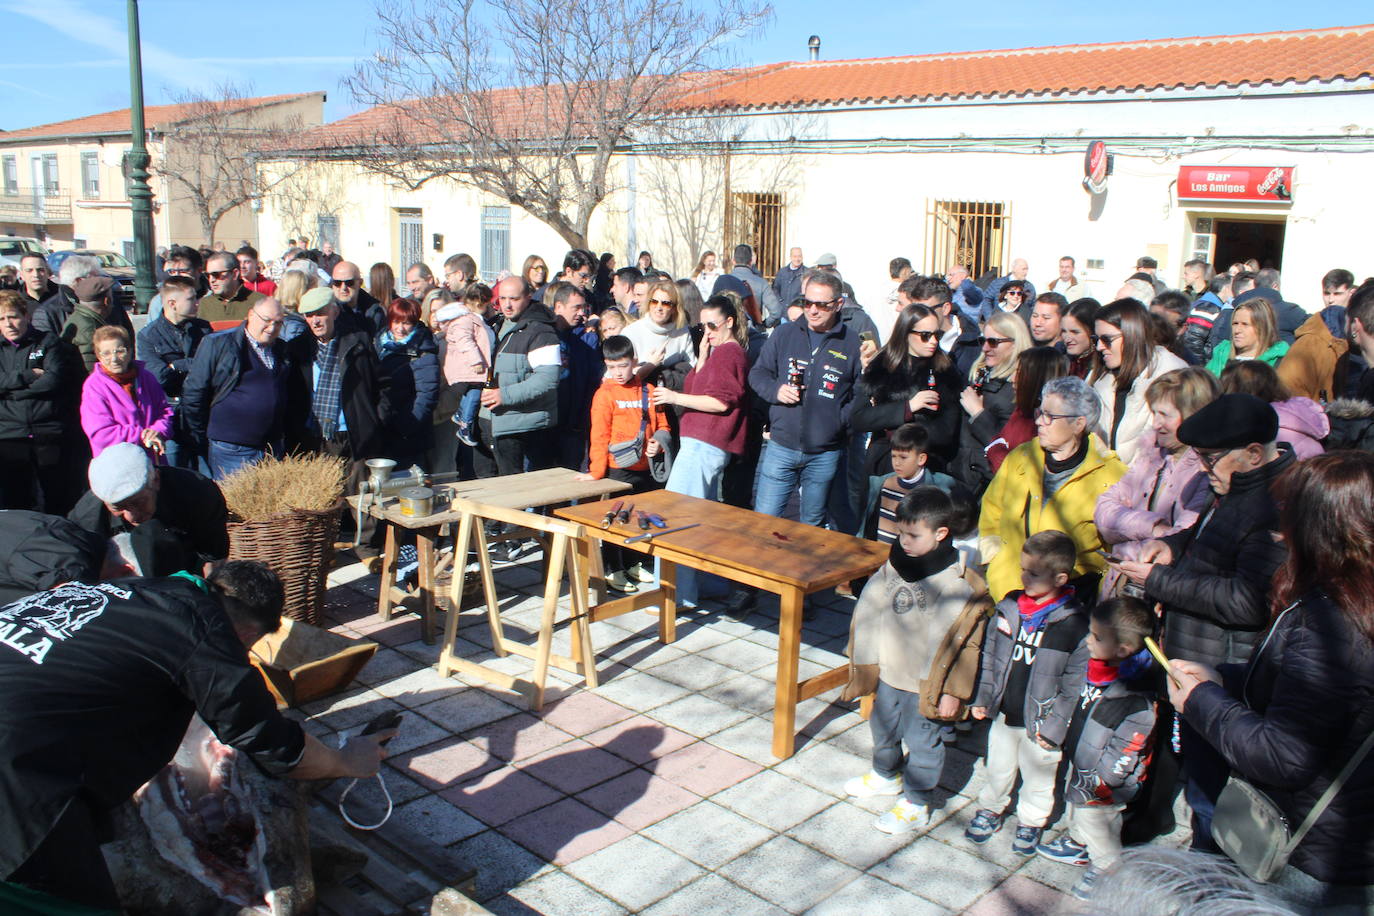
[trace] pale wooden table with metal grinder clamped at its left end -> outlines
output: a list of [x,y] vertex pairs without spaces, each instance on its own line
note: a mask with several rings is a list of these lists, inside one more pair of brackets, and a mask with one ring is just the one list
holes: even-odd
[[[574,479],[576,475],[577,471],[555,467],[547,471],[508,474],[506,477],[489,477],[480,481],[438,483],[433,489],[436,501],[438,501],[440,494],[448,494],[452,499],[475,500],[508,509],[533,509],[565,505],[578,500],[599,500],[611,493],[629,489],[628,483],[621,483],[620,481],[577,481]],[[348,497],[353,511],[357,511],[357,496]],[[419,560],[416,591],[420,599],[422,634],[426,643],[433,644],[434,582],[438,578],[434,541],[438,540],[440,530],[445,525],[460,522],[463,512],[445,505],[433,515],[401,515],[396,497],[387,497],[381,503],[371,503],[367,512],[386,526],[386,547],[382,551],[382,586],[376,596],[376,612],[383,621],[392,619],[398,597],[404,597],[404,595],[393,592],[396,589],[396,556],[400,551],[397,529],[409,530],[415,534],[415,552]],[[453,575],[462,574],[462,569],[453,570]],[[458,608],[455,607],[453,610],[456,611]]]

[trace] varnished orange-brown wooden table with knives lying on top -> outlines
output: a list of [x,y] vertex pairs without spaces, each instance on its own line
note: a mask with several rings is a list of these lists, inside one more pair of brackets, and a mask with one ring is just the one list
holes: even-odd
[[[875,541],[666,490],[639,493],[627,497],[627,501],[633,501],[636,511],[662,515],[668,529],[692,522],[698,522],[698,526],[662,534],[647,542],[625,544],[629,549],[660,559],[661,585],[654,591],[642,591],[606,602],[605,582],[588,581],[587,585],[595,591],[598,602],[591,607],[591,619],[603,621],[658,606],[660,639],[671,643],[676,637],[677,566],[714,573],[776,593],[782,614],[778,622],[778,692],[774,703],[772,751],[779,758],[791,757],[797,736],[797,703],[840,687],[848,678],[848,666],[841,666],[805,681],[797,680],[802,599],[812,592],[872,573],[888,559],[889,548]],[[627,537],[643,534],[633,522],[629,526],[614,525],[610,530],[603,530],[600,520],[610,504],[611,501],[606,500],[555,511],[555,515],[577,522],[585,529],[587,537],[578,545],[584,578],[594,575],[599,569],[592,564],[599,541],[624,544]]]

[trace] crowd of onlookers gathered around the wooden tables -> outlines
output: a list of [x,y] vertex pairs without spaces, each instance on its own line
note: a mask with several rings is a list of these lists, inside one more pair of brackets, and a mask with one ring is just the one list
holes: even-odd
[[[1178,791],[1216,849],[1228,773],[1300,821],[1374,725],[1374,280],[1330,271],[1309,314],[1254,262],[1190,261],[1169,288],[1140,258],[1102,302],[1070,257],[1041,293],[1022,260],[976,280],[896,258],[864,308],[835,255],[800,249],[771,282],[741,244],[683,277],[572,250],[489,286],[467,254],[398,284],[324,249],[268,269],[250,246],[172,247],[137,334],[98,264],[54,283],[26,257],[0,291],[3,507],[107,534],[168,503],[176,531],[192,522],[157,481],[210,505],[206,478],[316,452],[350,489],[374,457],[559,466],[881,540],[889,563],[841,586],[846,695],[875,692],[872,769],[846,791],[897,797],[879,829],[922,828],[954,725],[988,720],[966,836],[1014,816],[1013,850],[1085,867],[1083,894],[1172,828]],[[98,481],[117,446],[157,470]],[[607,551],[613,589],[653,581],[636,556]],[[743,617],[754,595],[684,570],[679,603],[708,600]],[[1371,797],[1364,766],[1293,856],[1293,900],[1370,902]]]

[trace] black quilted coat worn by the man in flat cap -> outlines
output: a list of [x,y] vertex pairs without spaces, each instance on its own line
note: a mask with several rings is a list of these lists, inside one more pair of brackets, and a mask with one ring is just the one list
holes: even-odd
[[1253,471],[1231,475],[1230,492],[1195,525],[1161,538],[1171,564],[1156,563],[1145,581],[1164,603],[1164,654],[1204,665],[1245,662],[1268,626],[1268,593],[1285,548],[1275,534],[1271,488],[1293,464],[1293,450]]

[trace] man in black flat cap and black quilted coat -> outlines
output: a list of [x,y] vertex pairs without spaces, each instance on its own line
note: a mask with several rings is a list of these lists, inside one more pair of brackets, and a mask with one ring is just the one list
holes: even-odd
[[[1223,394],[1179,426],[1216,499],[1193,527],[1149,541],[1116,566],[1164,606],[1164,652],[1217,666],[1245,663],[1270,625],[1270,581],[1283,563],[1274,481],[1294,461],[1279,417],[1252,394]],[[1212,812],[1226,761],[1182,722],[1193,847],[1215,851]]]

